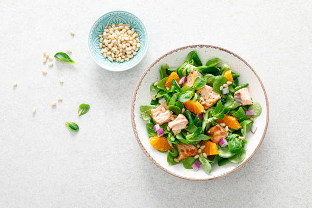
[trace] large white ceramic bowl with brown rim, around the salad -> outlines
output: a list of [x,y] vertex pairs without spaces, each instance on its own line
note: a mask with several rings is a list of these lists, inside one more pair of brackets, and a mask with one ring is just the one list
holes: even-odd
[[[254,119],[254,125],[257,126],[255,134],[247,133],[248,143],[245,146],[246,158],[241,163],[227,163],[221,167],[217,164],[212,165],[212,172],[208,175],[204,172],[202,167],[198,171],[188,170],[182,164],[171,166],[167,163],[167,154],[155,150],[149,144],[149,137],[146,132],[145,121],[142,120],[139,107],[143,104],[149,104],[150,91],[149,86],[152,82],[160,80],[159,68],[161,65],[169,65],[170,67],[178,67],[183,64],[187,54],[191,50],[196,50],[197,54],[205,63],[212,58],[220,58],[226,62],[231,70],[240,74],[240,83],[249,83],[249,91],[254,101],[259,102],[262,106],[262,114]],[[141,76],[134,92],[131,109],[132,125],[137,141],[147,157],[162,170],[174,176],[190,179],[190,180],[210,180],[228,175],[247,163],[253,154],[261,145],[269,122],[269,103],[268,97],[259,76],[251,68],[251,66],[238,55],[229,50],[211,46],[211,45],[190,45],[175,50],[163,55],[154,61]]]

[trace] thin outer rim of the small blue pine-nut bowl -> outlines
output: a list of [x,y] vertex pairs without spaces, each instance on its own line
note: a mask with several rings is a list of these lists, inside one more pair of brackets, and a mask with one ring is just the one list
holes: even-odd
[[[130,65],[130,66],[126,67],[126,68],[123,68],[122,70],[112,70],[110,67],[105,67],[105,66],[100,65],[100,64],[95,60],[95,58],[93,57],[93,55],[92,55],[92,53],[91,53],[90,44],[89,44],[89,38],[90,38],[90,36],[91,36],[91,33],[92,33],[93,28],[95,27],[96,22],[97,22],[99,19],[101,19],[103,16],[109,15],[109,14],[111,14],[111,13],[116,13],[116,12],[124,12],[124,13],[133,15],[134,17],[136,17],[137,19],[139,19],[139,20],[141,21],[141,23],[142,23],[142,25],[143,25],[143,27],[144,27],[144,29],[145,29],[145,31],[146,31],[146,37],[145,37],[145,39],[146,39],[146,49],[145,49],[145,51],[144,51],[142,57],[141,57],[134,65]],[[92,57],[93,61],[94,61],[98,66],[100,66],[101,68],[104,68],[104,69],[106,69],[106,70],[109,70],[109,71],[125,71],[125,70],[128,70],[128,69],[131,69],[131,68],[135,67],[136,65],[138,65],[138,64],[142,61],[142,59],[144,58],[144,56],[145,56],[145,54],[146,54],[146,52],[147,52],[147,48],[148,48],[148,44],[149,44],[149,39],[148,39],[148,31],[147,31],[147,29],[146,29],[146,27],[145,27],[144,22],[141,20],[141,18],[139,18],[137,15],[134,15],[134,14],[131,13],[131,12],[127,12],[127,11],[123,11],[123,10],[116,10],[116,11],[111,11],[111,12],[105,13],[105,14],[101,15],[99,18],[97,18],[97,19],[95,20],[95,22],[92,24],[92,27],[91,27],[91,29],[90,29],[90,32],[89,32],[89,35],[88,35],[88,41],[87,41],[87,42],[88,42],[89,54],[90,54],[90,56]]]

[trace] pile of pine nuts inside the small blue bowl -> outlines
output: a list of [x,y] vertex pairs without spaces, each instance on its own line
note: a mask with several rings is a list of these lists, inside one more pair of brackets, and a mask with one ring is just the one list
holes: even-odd
[[130,24],[119,23],[106,26],[100,37],[99,46],[104,58],[111,62],[124,62],[132,59],[140,48],[140,39]]

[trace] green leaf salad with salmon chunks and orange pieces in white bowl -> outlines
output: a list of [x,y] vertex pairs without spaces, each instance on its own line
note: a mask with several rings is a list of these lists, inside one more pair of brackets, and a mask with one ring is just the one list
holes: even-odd
[[160,81],[150,85],[150,105],[140,106],[149,143],[167,153],[170,165],[200,167],[240,163],[246,157],[247,132],[262,108],[253,101],[248,83],[219,58],[202,65],[191,51],[183,65],[160,67]]

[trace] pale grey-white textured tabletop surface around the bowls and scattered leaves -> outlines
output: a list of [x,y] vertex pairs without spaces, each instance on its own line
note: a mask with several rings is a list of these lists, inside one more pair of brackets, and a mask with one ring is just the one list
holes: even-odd
[[[138,15],[150,38],[144,60],[119,73],[99,68],[87,48],[91,25],[112,10]],[[308,1],[2,1],[0,207],[311,207],[311,10]],[[270,103],[258,152],[212,181],[160,170],[131,126],[142,72],[190,44],[243,57]],[[44,49],[53,55],[67,48],[78,65],[41,63]],[[64,101],[52,108],[57,97]],[[91,109],[78,117],[83,102]],[[79,133],[64,121],[78,123]]]

